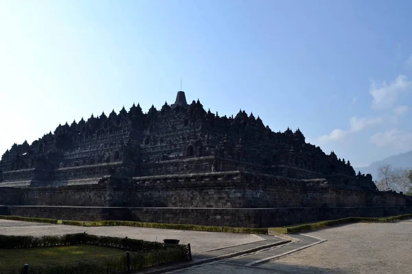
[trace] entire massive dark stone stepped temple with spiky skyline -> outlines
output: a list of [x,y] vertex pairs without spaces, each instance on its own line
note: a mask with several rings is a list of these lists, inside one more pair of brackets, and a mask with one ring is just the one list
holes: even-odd
[[55,219],[272,226],[409,212],[371,175],[240,110],[219,116],[185,92],[58,125],[0,162],[0,214]]

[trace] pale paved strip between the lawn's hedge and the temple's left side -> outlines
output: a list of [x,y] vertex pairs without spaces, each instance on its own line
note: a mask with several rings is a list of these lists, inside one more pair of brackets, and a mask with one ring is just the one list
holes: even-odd
[[252,234],[234,234],[222,232],[195,232],[190,230],[157,229],[146,227],[78,227],[75,225],[52,225],[23,221],[0,220],[0,234],[3,235],[63,235],[87,232],[100,236],[128,237],[141,240],[163,242],[165,238],[181,240],[181,244],[190,243],[192,253],[203,253],[211,249],[229,247],[247,242],[264,240]]

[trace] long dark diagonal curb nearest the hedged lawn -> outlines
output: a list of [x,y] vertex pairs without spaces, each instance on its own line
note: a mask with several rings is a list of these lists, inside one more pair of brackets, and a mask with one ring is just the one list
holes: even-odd
[[245,249],[245,250],[242,250],[242,251],[228,253],[228,254],[225,254],[225,255],[220,255],[220,256],[216,256],[216,257],[212,257],[212,258],[187,262],[187,263],[181,264],[181,265],[169,266],[169,267],[165,267],[163,269],[153,269],[152,271],[149,270],[149,271],[145,271],[145,272],[136,272],[136,273],[158,274],[158,273],[166,273],[166,272],[170,272],[170,271],[176,271],[176,270],[179,270],[179,269],[187,269],[187,268],[192,267],[192,266],[198,266],[200,264],[207,264],[208,262],[214,262],[216,260],[222,260],[222,259],[227,259],[227,258],[233,258],[233,257],[236,257],[236,256],[241,256],[243,254],[252,253],[252,252],[255,252],[255,251],[259,251],[261,249],[266,249],[268,247],[276,247],[278,245],[285,245],[288,242],[290,242],[290,240],[282,240],[280,242],[273,242],[271,244],[261,245],[259,247],[253,247],[252,249]]

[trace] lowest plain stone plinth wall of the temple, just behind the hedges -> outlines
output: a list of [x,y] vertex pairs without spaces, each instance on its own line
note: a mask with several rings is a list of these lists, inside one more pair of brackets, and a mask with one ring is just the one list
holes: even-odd
[[407,214],[412,213],[412,207],[236,209],[8,206],[7,213],[78,221],[128,220],[233,227],[275,227],[349,216],[378,217]]

